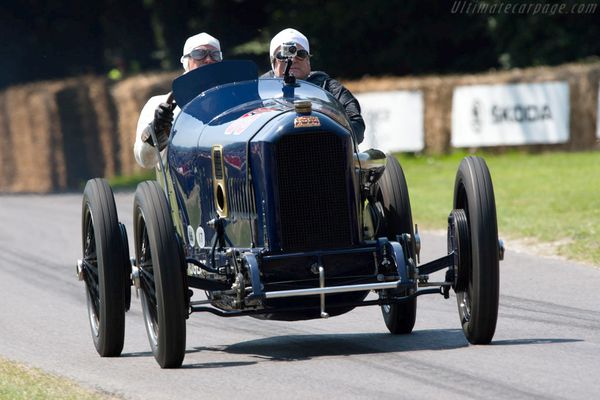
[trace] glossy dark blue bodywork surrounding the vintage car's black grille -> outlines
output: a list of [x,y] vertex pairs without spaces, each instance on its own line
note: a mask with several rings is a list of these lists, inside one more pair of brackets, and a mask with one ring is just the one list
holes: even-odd
[[[204,72],[203,69],[197,71]],[[180,208],[180,232],[186,232],[188,226],[194,231],[202,227],[207,246],[215,235],[207,224],[218,216],[211,190],[211,152],[218,145],[222,146],[227,178],[225,189],[229,212],[226,229],[231,245],[281,251],[277,215],[268,212],[275,209],[278,193],[273,144],[282,135],[290,133],[302,135],[327,131],[341,137],[344,146],[339,156],[348,160],[345,171],[347,198],[350,207],[358,209],[351,163],[354,149],[344,111],[329,93],[308,82],[299,81],[296,87],[287,89],[281,79],[228,83],[206,90],[183,106],[174,123],[168,149],[168,164]],[[297,117],[293,102],[299,99],[311,101],[312,115],[319,118],[320,126],[293,127]],[[352,221],[348,221],[356,231],[354,243],[359,240],[357,217],[354,213]],[[250,226],[253,220],[256,232],[252,232]],[[189,241],[186,244],[189,246]],[[191,246],[189,250],[192,250]]]

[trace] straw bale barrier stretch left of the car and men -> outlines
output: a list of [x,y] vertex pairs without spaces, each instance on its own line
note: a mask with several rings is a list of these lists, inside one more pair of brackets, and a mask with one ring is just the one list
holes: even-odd
[[0,193],[79,190],[91,177],[139,171],[139,113],[149,97],[170,90],[175,76],[116,84],[84,76],[0,92]]

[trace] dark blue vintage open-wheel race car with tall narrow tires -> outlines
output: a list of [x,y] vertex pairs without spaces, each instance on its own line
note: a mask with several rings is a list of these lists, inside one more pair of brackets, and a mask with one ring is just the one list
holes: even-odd
[[[135,192],[135,257],[111,188],[88,181],[77,274],[98,353],[121,354],[132,285],[163,368],[182,364],[194,312],[293,321],[378,305],[389,331],[406,334],[417,297],[450,289],[467,340],[489,343],[503,246],[483,159],[458,168],[448,253],[418,265],[398,161],[359,152],[342,105],[321,88],[256,77],[253,63],[224,61],[174,81],[181,112],[157,181]],[[441,270],[445,279],[429,280]]]

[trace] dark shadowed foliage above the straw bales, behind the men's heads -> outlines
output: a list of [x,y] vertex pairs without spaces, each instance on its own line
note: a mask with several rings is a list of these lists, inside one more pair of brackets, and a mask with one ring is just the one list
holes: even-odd
[[[553,6],[539,0],[533,5]],[[553,65],[600,55],[600,5],[568,13],[457,12],[501,0],[42,0],[0,4],[0,88],[87,72],[178,69],[185,39],[206,31],[226,58],[269,68],[268,43],[294,27],[313,68],[344,78]],[[514,2],[510,4],[520,3]],[[529,4],[529,3],[527,3]],[[596,6],[595,9],[589,8]],[[454,10],[454,11],[453,11]],[[581,11],[581,10],[579,10]],[[587,11],[587,13],[585,13]]]

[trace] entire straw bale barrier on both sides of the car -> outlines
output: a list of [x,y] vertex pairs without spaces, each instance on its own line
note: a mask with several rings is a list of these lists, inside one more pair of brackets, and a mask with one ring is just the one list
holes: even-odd
[[[132,151],[139,112],[149,97],[167,93],[177,74],[144,74],[118,83],[83,76],[0,92],[0,193],[81,190],[91,177],[139,172]],[[456,86],[547,81],[569,83],[570,140],[526,148],[598,149],[600,62],[477,75],[366,77],[344,83],[355,93],[422,91],[425,151],[443,153],[450,150]]]

